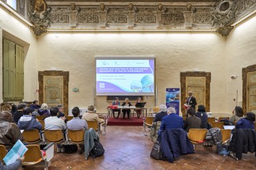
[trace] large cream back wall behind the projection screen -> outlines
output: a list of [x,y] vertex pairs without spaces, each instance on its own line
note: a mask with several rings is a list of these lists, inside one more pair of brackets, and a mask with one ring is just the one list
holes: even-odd
[[[94,57],[156,56],[158,104],[165,103],[165,88],[180,87],[180,71],[212,73],[211,112],[225,112],[225,39],[216,33],[46,33],[38,37],[38,70],[70,71],[69,107],[95,104],[106,112],[106,97],[96,97]],[[47,65],[46,65],[47,63]],[[72,88],[79,92],[72,92]],[[218,89],[218,90],[217,90]],[[145,99],[154,107],[154,97]],[[95,101],[95,103],[94,103]]]

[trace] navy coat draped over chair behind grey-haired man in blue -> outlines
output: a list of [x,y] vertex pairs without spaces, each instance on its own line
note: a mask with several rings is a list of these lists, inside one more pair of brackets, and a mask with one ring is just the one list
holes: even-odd
[[160,132],[162,152],[169,163],[182,154],[194,154],[193,144],[183,129],[165,129]]

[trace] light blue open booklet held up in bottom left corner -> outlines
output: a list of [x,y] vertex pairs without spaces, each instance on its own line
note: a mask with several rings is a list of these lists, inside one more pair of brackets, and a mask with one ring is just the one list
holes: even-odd
[[27,147],[18,140],[8,154],[3,158],[5,165],[14,163],[18,157],[23,157],[25,152],[27,152]]

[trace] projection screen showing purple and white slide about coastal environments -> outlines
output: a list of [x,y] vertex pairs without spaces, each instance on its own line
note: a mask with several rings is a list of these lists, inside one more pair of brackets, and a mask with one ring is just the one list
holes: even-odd
[[154,95],[154,58],[96,57],[96,95]]

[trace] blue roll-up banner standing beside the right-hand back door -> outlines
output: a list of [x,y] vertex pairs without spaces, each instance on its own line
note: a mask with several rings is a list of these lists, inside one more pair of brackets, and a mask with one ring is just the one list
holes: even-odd
[[174,107],[176,114],[180,114],[180,88],[167,88],[166,89],[166,105]]

